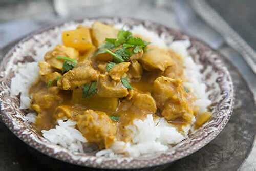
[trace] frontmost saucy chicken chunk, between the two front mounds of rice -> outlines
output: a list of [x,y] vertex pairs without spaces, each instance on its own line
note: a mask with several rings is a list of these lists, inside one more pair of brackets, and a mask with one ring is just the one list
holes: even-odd
[[117,127],[105,112],[87,110],[77,117],[77,127],[89,142],[109,148],[115,140]]

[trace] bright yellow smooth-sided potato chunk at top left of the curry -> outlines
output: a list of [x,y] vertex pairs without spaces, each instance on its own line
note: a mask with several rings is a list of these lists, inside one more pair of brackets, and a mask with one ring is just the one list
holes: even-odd
[[75,30],[63,31],[62,41],[65,46],[75,48],[78,51],[86,51],[93,46],[90,30],[83,26]]

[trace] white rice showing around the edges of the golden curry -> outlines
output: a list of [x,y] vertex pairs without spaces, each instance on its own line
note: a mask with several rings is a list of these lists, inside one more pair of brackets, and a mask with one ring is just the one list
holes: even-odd
[[[122,24],[115,26],[116,28],[122,28]],[[71,28],[75,28],[75,25]],[[126,29],[126,27],[124,27]],[[59,30],[59,35],[61,31]],[[189,56],[187,48],[190,46],[189,40],[174,41],[167,47],[163,40],[163,36],[158,36],[152,31],[148,31],[142,25],[134,26],[131,31],[134,34],[140,34],[149,39],[153,45],[161,48],[170,48],[174,52],[178,53],[184,60],[185,77],[187,82],[185,86],[191,90],[197,97],[196,105],[200,107],[200,112],[207,110],[207,106],[211,103],[205,93],[206,86],[203,82],[202,75],[200,74],[201,66],[197,65],[191,56]],[[35,61],[43,60],[45,53],[52,49],[55,45],[60,44],[60,36],[56,40],[51,40],[52,46],[43,46],[34,48],[36,51]],[[38,77],[37,62],[26,63],[19,65],[15,77],[11,81],[11,95],[15,96],[19,93],[20,96],[20,109],[27,109],[30,105],[30,97],[28,95],[28,89],[31,82],[36,81]],[[35,115],[29,113],[26,119],[30,122],[35,121]],[[193,123],[195,118],[193,118]],[[96,156],[108,156],[114,157],[119,154],[129,155],[137,157],[140,155],[152,154],[159,151],[166,151],[171,148],[171,145],[177,144],[183,139],[187,138],[188,132],[193,126],[193,123],[188,124],[182,128],[179,132],[174,126],[167,123],[163,118],[153,119],[152,115],[147,115],[144,120],[134,120],[132,125],[126,126],[126,129],[130,130],[132,142],[125,143],[122,141],[115,141],[110,149],[104,149],[99,151]],[[76,122],[68,120],[66,122],[58,120],[58,125],[54,129],[49,131],[42,131],[44,136],[51,143],[58,144],[62,147],[70,149],[74,152],[83,152],[82,144],[87,140],[82,134],[75,129]]]

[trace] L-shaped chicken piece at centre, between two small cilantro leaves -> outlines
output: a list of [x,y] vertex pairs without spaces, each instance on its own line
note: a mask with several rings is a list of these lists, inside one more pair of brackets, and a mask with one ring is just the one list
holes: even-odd
[[128,90],[121,82],[112,81],[107,74],[100,74],[97,80],[97,94],[100,97],[126,97]]

